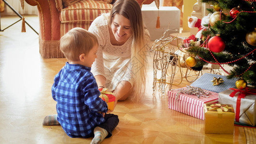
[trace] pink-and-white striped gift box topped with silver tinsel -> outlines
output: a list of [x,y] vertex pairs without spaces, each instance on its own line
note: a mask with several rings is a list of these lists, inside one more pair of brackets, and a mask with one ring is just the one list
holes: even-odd
[[[197,119],[204,120],[204,104],[218,103],[218,93],[210,92],[209,97],[198,98],[195,95],[180,94],[178,100],[175,96],[179,89],[168,91],[169,108],[190,115]],[[207,91],[207,90],[206,90]]]

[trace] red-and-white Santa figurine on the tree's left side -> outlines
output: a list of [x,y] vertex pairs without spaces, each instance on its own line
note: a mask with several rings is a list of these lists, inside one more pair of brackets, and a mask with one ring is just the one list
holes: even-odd
[[198,28],[198,31],[195,35],[196,38],[201,39],[203,37],[202,32],[204,30],[206,30],[206,28],[207,28],[207,26],[204,26],[204,25],[209,24],[209,19],[210,19],[210,14],[208,14],[207,16],[204,16],[202,18],[202,20],[195,16],[188,17],[188,27],[189,28],[195,28],[195,27]]

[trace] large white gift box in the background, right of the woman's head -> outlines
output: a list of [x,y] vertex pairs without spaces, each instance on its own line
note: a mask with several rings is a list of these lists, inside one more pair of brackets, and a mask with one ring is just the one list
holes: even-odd
[[181,10],[177,7],[159,7],[160,28],[158,29],[156,28],[158,8],[156,6],[149,7],[142,5],[141,12],[152,41],[161,38],[162,34],[168,28],[178,30],[177,33],[180,32]]

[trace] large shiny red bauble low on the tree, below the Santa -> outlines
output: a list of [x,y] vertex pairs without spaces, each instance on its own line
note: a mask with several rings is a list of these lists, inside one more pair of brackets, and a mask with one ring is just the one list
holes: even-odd
[[208,41],[208,47],[212,52],[221,52],[225,48],[225,43],[219,36],[213,36]]

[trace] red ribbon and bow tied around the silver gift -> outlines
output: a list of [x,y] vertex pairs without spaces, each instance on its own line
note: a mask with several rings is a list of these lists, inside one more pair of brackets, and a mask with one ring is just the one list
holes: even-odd
[[235,110],[235,121],[239,122],[241,99],[250,94],[256,95],[256,89],[249,89],[249,87],[246,87],[244,90],[240,90],[236,88],[230,88],[230,89],[233,90],[233,92],[229,95],[231,97],[234,97],[236,93],[240,92],[236,100],[236,110]]

